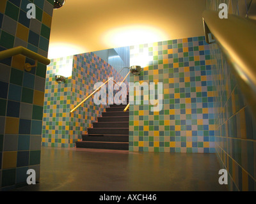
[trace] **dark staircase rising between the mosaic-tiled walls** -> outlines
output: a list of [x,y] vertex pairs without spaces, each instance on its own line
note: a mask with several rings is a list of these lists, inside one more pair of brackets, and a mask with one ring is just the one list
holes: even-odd
[[[127,103],[128,96],[127,96]],[[129,110],[127,105],[110,105],[98,122],[93,122],[93,128],[88,128],[88,134],[82,135],[82,141],[76,142],[77,148],[129,150]]]

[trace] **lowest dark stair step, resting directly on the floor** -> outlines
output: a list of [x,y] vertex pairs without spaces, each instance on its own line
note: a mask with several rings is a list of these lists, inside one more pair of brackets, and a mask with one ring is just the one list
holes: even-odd
[[77,141],[77,148],[89,149],[113,149],[113,150],[129,150],[129,142],[92,142],[92,141]]

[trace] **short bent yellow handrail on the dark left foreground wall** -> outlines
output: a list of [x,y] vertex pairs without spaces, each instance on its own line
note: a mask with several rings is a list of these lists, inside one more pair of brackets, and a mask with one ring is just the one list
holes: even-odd
[[28,50],[27,48],[24,48],[22,46],[10,48],[8,50],[3,50],[0,52],[0,60],[6,59],[8,57],[12,57],[14,55],[25,55],[26,57],[29,57],[31,59],[34,59],[35,61],[41,62],[45,65],[48,65],[51,63],[50,59],[47,59],[46,57],[37,54],[36,52],[33,52],[31,50]]

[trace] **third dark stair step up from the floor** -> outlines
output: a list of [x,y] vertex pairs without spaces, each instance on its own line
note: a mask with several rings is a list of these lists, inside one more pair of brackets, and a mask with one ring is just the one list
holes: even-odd
[[129,128],[87,128],[88,135],[129,135]]

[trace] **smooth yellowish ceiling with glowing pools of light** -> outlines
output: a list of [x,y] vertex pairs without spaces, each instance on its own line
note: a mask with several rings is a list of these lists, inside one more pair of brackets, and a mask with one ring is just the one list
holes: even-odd
[[204,35],[205,0],[67,0],[53,11],[48,58]]

